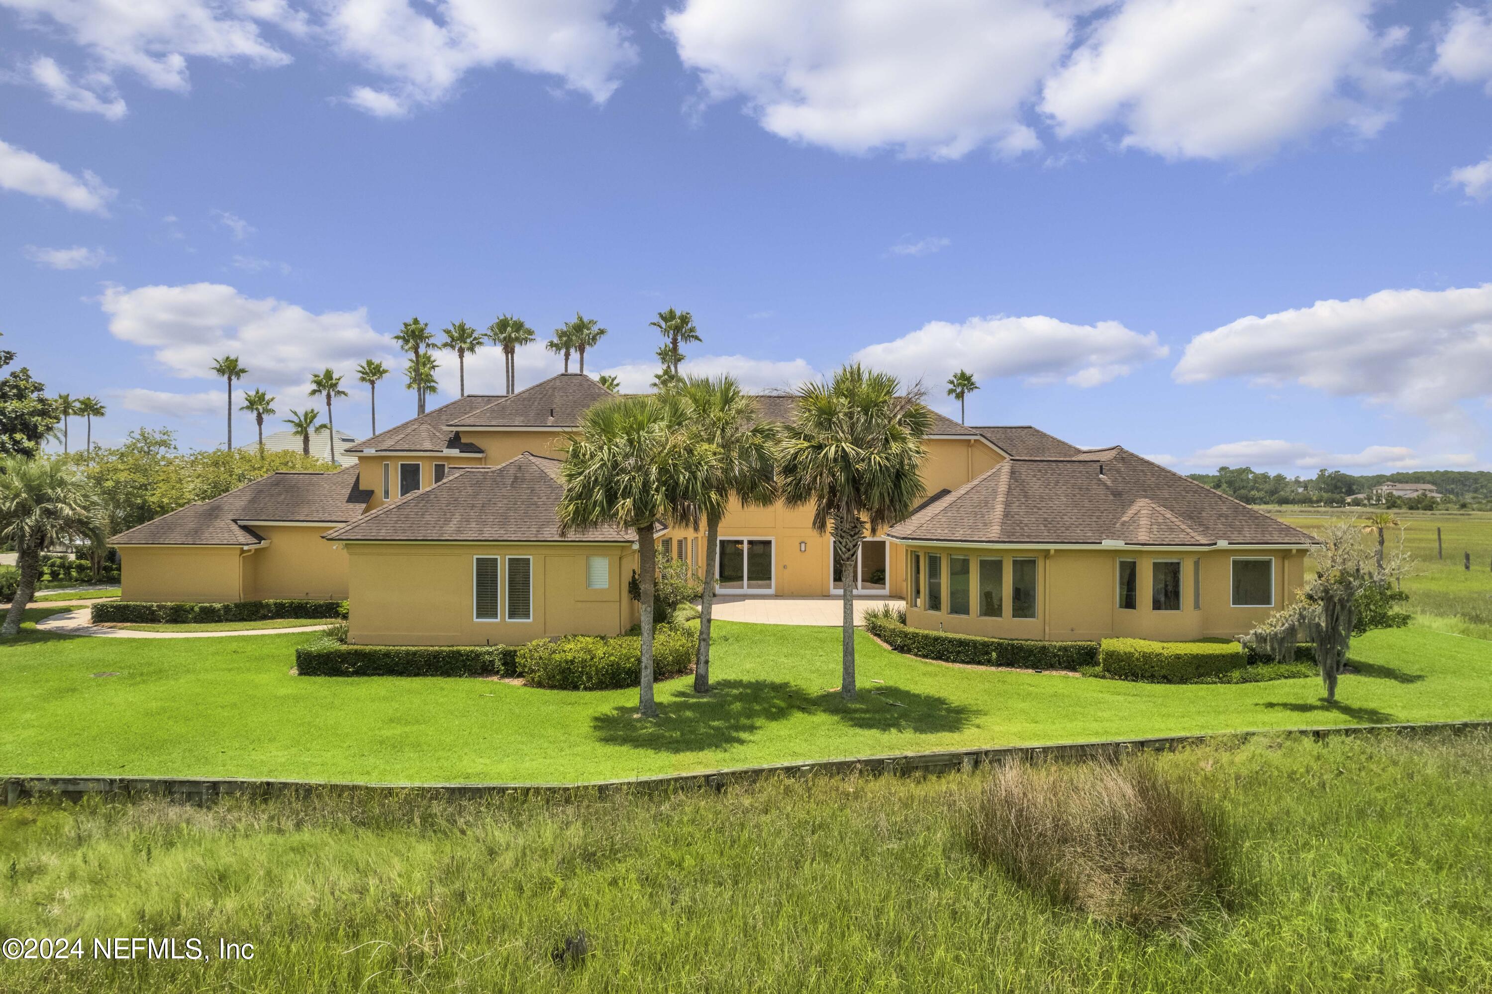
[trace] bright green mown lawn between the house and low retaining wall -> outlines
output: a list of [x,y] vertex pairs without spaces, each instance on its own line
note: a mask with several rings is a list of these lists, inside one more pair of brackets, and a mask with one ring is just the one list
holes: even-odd
[[[545,691],[498,681],[291,676],[309,636],[0,643],[0,775],[379,782],[595,781],[759,763],[1237,728],[1492,718],[1492,643],[1422,628],[1356,640],[1341,703],[1314,678],[1162,687],[897,655],[861,633],[722,622],[718,690]],[[115,676],[94,676],[115,673]],[[882,681],[882,682],[876,682]]]

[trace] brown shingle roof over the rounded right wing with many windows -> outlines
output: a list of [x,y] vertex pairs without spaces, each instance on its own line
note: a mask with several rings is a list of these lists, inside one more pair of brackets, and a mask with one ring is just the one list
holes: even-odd
[[[1103,473],[1100,473],[1103,469]],[[1006,460],[894,525],[903,542],[1288,545],[1311,539],[1122,448]]]

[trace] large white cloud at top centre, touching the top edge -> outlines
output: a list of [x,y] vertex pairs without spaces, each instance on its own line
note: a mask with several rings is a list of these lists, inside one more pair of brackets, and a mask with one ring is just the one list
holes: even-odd
[[685,0],[664,16],[707,100],[839,152],[959,158],[1040,145],[1022,119],[1071,19],[1040,0]]

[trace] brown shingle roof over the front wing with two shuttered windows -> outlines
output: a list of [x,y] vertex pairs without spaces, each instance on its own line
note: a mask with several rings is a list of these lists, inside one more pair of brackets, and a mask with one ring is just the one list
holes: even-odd
[[328,531],[333,542],[633,542],[612,525],[560,534],[560,461],[530,452],[501,466],[452,469],[416,491]]

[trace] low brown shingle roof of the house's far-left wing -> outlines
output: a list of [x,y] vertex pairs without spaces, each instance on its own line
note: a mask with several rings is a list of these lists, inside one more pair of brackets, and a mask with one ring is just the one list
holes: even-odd
[[270,473],[116,534],[112,545],[258,545],[263,536],[240,521],[352,521],[373,496],[358,490],[358,467],[336,473]]

